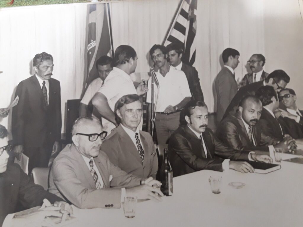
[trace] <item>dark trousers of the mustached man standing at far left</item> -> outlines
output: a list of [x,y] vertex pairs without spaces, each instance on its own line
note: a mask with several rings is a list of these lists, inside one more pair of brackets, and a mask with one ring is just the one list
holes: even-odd
[[48,162],[52,154],[54,142],[45,140],[41,147],[23,146],[23,153],[28,156],[28,175],[35,167],[48,167]]

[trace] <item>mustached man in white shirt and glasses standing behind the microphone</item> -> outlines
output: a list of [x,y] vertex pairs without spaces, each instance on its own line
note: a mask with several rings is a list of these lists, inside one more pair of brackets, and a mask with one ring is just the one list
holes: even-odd
[[[159,87],[154,86],[153,94],[157,140],[158,144],[166,144],[171,134],[180,125],[180,110],[190,101],[191,92],[184,72],[169,66],[167,50],[164,46],[155,44],[149,53],[153,62],[159,68],[156,73]],[[149,113],[151,110],[151,95],[151,78],[149,78],[146,97],[146,102],[149,103]],[[148,124],[150,126],[149,120]]]

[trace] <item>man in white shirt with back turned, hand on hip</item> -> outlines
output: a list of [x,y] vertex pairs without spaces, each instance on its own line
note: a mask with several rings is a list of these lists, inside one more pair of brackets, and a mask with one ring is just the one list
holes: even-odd
[[138,94],[147,92],[147,87],[140,83],[135,88],[130,74],[134,73],[137,67],[137,53],[131,46],[120,45],[115,51],[114,66],[108,77],[104,80],[103,86],[92,98],[93,106],[101,114],[104,130],[111,132],[118,124],[115,121],[115,103],[123,95]]

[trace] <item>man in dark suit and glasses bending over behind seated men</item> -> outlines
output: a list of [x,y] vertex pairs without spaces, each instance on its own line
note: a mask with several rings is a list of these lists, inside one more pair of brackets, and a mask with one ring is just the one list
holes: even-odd
[[273,87],[276,92],[279,92],[281,89],[286,87],[289,81],[290,77],[285,73],[285,71],[279,69],[269,74],[265,81],[258,81],[256,83],[248,84],[245,87],[241,87],[228,105],[223,119],[227,117],[228,114],[234,115],[238,109],[241,99],[247,95],[255,95],[259,87],[268,85]]

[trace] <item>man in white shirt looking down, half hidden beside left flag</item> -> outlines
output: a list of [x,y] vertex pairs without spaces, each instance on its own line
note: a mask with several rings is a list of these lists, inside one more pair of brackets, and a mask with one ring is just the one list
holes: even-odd
[[112,61],[111,57],[106,55],[100,57],[96,61],[96,68],[98,71],[99,77],[93,80],[87,87],[85,94],[80,102],[79,106],[79,116],[90,116],[92,113],[88,108],[88,105],[91,104],[92,97],[97,93],[100,87],[103,84],[103,81],[108,76],[108,74],[112,71]]

